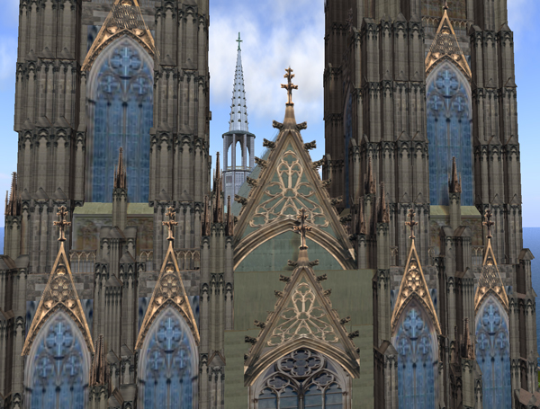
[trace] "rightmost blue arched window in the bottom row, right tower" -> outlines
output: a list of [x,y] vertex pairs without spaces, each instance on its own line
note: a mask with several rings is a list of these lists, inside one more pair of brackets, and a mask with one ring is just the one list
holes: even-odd
[[483,406],[512,406],[509,317],[493,296],[476,313],[476,361],[482,370]]

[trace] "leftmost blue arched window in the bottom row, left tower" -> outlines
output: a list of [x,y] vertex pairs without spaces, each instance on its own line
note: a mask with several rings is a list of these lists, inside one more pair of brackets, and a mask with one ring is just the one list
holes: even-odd
[[41,328],[26,360],[26,402],[30,409],[84,409],[90,353],[75,323],[58,311]]

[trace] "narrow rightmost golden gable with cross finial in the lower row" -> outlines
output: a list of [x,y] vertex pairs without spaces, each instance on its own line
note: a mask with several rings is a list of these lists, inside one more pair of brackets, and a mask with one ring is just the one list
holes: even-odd
[[497,259],[495,253],[493,253],[493,247],[491,245],[491,227],[495,225],[495,222],[491,219],[493,216],[491,209],[486,209],[484,215],[484,221],[482,222],[485,227],[488,228],[488,244],[486,245],[484,259],[482,263],[482,273],[478,280],[478,288],[474,295],[474,309],[478,311],[478,308],[482,305],[484,298],[489,295],[494,295],[500,300],[502,305],[509,310],[509,297],[504,283],[502,282],[499,274],[499,268],[497,266]]

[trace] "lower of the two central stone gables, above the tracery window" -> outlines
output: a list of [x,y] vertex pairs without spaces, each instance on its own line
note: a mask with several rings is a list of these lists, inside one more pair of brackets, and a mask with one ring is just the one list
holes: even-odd
[[284,280],[287,284],[283,293],[276,291],[275,311],[265,324],[256,323],[262,330],[247,354],[245,384],[250,385],[275,360],[300,347],[328,355],[357,378],[358,351],[344,327],[348,319],[342,324],[338,312],[332,308],[330,291],[322,288],[307,262],[302,262],[291,278]]

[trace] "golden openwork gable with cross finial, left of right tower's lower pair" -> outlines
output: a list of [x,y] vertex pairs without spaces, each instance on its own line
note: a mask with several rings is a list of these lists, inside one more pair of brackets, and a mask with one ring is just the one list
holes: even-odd
[[422,271],[419,253],[416,249],[416,237],[414,236],[414,229],[419,223],[415,220],[415,215],[415,211],[410,209],[410,220],[405,222],[405,224],[410,227],[410,252],[409,257],[407,258],[407,264],[405,264],[405,273],[401,279],[400,292],[396,298],[396,304],[392,313],[392,334],[396,333],[401,314],[409,302],[416,299],[419,304],[425,308],[429,318],[437,330],[437,334],[440,335],[441,326],[437,318],[437,311],[433,305],[431,296],[429,295],[428,283],[424,277],[424,271]]

